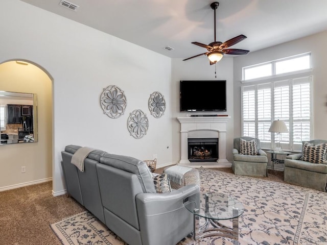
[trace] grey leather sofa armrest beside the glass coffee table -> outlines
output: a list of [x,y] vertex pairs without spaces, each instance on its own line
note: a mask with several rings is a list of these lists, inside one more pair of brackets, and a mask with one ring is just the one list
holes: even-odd
[[167,193],[139,193],[136,207],[145,245],[176,244],[193,230],[193,214],[184,202],[200,203],[200,187],[186,185]]

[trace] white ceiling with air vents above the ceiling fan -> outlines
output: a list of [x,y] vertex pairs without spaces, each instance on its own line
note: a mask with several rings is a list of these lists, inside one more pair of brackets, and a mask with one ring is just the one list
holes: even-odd
[[[171,58],[206,52],[191,44],[214,41],[214,11],[209,0],[21,0]],[[244,34],[232,46],[261,50],[327,30],[325,0],[218,0],[217,41]],[[108,43],[109,45],[109,43]],[[310,45],[310,44],[308,44]],[[167,51],[166,46],[174,50]]]

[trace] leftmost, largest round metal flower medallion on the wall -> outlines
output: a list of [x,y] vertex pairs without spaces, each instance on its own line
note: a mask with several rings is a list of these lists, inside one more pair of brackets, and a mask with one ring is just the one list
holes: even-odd
[[110,85],[104,89],[100,97],[103,112],[111,118],[118,118],[124,114],[127,101],[123,90],[118,86]]

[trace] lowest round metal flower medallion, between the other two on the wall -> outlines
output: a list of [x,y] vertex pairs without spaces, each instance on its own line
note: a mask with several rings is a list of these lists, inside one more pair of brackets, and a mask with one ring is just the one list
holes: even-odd
[[146,135],[149,127],[147,115],[142,110],[134,110],[129,114],[127,127],[131,136],[135,139],[141,139]]

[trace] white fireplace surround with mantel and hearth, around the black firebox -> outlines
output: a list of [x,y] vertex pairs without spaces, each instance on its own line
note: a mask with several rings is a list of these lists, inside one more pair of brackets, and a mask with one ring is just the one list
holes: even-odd
[[[202,117],[177,117],[180,122],[180,165],[230,167],[226,159],[226,129],[230,116],[202,116]],[[218,139],[217,158],[214,161],[190,161],[189,139]],[[192,141],[191,140],[191,141]]]

